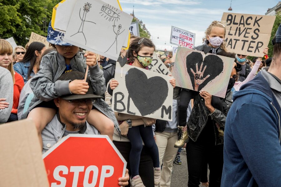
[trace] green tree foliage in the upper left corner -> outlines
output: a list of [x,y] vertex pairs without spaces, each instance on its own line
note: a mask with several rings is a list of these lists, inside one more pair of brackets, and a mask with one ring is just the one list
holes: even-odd
[[31,32],[47,36],[52,8],[60,0],[0,0],[0,38],[25,46]]

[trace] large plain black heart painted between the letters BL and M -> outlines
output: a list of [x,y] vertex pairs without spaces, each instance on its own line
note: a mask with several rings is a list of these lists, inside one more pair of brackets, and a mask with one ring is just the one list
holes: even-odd
[[128,70],[125,76],[129,98],[132,98],[142,116],[152,114],[162,107],[168,96],[168,84],[162,77],[147,76],[137,68]]

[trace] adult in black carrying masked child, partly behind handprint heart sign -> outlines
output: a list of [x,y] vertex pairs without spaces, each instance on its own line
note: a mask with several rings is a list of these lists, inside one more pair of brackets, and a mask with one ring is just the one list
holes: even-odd
[[[235,58],[234,53],[221,51],[218,55]],[[200,174],[205,172],[206,163],[210,169],[210,187],[220,186],[223,169],[224,125],[231,107],[232,91],[237,72],[241,69],[234,64],[225,98],[212,96],[201,90],[194,94],[194,107],[187,122],[190,141],[186,146],[189,180],[188,186],[200,184]]]

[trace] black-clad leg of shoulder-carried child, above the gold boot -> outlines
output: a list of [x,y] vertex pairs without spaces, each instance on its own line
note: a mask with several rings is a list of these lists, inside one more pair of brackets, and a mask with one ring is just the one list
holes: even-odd
[[178,126],[184,127],[186,125],[187,108],[190,100],[193,98],[194,91],[182,89],[180,92],[180,103],[178,105],[179,124]]

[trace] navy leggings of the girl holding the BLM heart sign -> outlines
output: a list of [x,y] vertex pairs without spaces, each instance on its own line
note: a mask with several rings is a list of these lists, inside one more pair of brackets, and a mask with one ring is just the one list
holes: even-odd
[[[158,147],[153,137],[152,126],[139,125],[129,128],[127,137],[131,141],[132,148],[130,152],[131,177],[139,175],[139,165],[141,159],[142,141],[149,150],[153,167],[160,167]],[[142,141],[141,141],[142,140]]]

